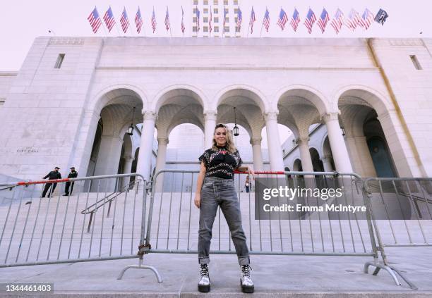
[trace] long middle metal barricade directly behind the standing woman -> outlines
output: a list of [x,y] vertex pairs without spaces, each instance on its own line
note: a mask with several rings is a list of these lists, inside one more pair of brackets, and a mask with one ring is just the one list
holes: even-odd
[[[246,173],[238,174],[235,183],[250,254],[371,256],[373,261],[368,262],[368,266],[383,268],[392,274],[389,268],[378,262],[378,249],[369,212],[365,213],[364,218],[357,218],[355,213],[349,212],[304,212],[286,220],[256,219],[254,189],[246,192],[242,187],[246,175],[241,175]],[[157,179],[160,175],[163,179]],[[355,201],[361,206],[369,206],[368,197],[363,193],[363,182],[354,173],[256,172],[258,178],[269,175],[278,176],[281,179],[276,180],[276,183],[285,183],[290,187],[325,187],[332,182],[332,185],[344,189],[340,202],[335,201],[335,204],[354,204]],[[310,180],[305,180],[303,175]],[[145,244],[140,247],[139,254],[198,253],[199,211],[193,204],[197,178],[197,170],[160,170],[156,173],[152,180]],[[251,178],[250,181],[252,182]],[[162,185],[157,185],[158,183]],[[316,198],[306,197],[303,204],[312,206],[316,201]],[[210,254],[235,253],[229,228],[219,209],[212,228]]]

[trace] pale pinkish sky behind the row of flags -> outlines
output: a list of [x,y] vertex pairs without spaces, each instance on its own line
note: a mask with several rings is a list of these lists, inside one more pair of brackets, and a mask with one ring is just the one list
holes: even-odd
[[[173,37],[183,37],[181,34],[181,6],[184,7],[184,20],[186,25],[185,36],[191,36],[192,28],[192,1],[193,0],[160,0],[160,1],[1,1],[0,2],[0,71],[18,71],[28,53],[30,46],[39,36],[126,36],[126,37],[169,37],[164,27],[165,11],[169,7],[170,23],[172,25],[171,35]],[[199,0],[202,3],[203,0]],[[232,0],[230,0],[232,1]],[[222,2],[222,0],[220,0]],[[212,3],[212,0],[209,0]],[[93,34],[87,17],[92,9],[97,6],[101,18],[108,6],[111,5],[116,23],[119,23],[121,11],[126,8],[128,12],[131,28],[134,29],[134,18],[138,6],[140,6],[143,15],[144,28],[138,35],[136,31],[129,30],[126,35],[120,34],[120,28],[114,27],[112,32],[108,33],[100,27],[97,34]],[[270,30],[263,33],[261,37],[432,37],[432,1],[431,0],[339,0],[339,1],[258,1],[258,0],[239,0],[241,11],[243,11],[243,23],[241,34],[244,38],[260,37],[260,27],[263,23],[263,15],[266,6],[270,11]],[[152,33],[150,27],[150,18],[152,7],[155,7],[157,19],[157,31]],[[256,13],[256,23],[254,24],[253,34],[246,37],[248,30],[251,7],[253,6]],[[299,30],[294,32],[287,24],[282,32],[277,26],[277,18],[280,8],[287,12],[289,18],[294,11],[294,7],[299,11],[301,24]],[[349,31],[346,27],[336,35],[332,27],[328,25],[327,31],[321,34],[318,25],[315,24],[311,35],[306,31],[303,25],[308,8],[311,8],[316,17],[319,18],[323,7],[328,11],[330,18],[335,14],[337,8],[340,8],[345,15],[354,8],[360,14],[365,8],[372,13],[378,12],[379,8],[388,12],[387,22],[381,26],[373,23],[369,30],[357,28],[354,32]],[[51,30],[51,32],[49,32]]]

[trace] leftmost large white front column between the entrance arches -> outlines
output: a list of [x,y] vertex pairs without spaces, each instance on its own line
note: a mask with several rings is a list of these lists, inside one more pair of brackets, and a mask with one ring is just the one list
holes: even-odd
[[143,111],[143,131],[141,132],[140,153],[136,172],[150,178],[150,166],[152,163],[153,135],[155,133],[156,114],[153,111]]

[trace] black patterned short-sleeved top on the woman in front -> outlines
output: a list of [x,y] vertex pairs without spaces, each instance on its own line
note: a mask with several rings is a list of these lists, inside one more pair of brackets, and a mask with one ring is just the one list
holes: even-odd
[[207,149],[198,159],[203,161],[205,177],[218,177],[233,179],[234,170],[241,166],[239,151],[229,152],[225,147],[217,147],[217,150]]

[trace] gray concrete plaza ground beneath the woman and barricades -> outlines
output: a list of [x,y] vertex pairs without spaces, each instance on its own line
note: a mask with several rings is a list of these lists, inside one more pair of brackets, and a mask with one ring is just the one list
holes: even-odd
[[[419,290],[390,275],[362,272],[370,257],[251,256],[255,297],[432,297],[431,249],[386,249],[392,265],[402,270]],[[234,255],[212,256],[208,294],[197,291],[198,264],[194,254],[148,254],[144,263],[163,278],[157,283],[148,270],[130,269],[138,259],[0,268],[0,283],[54,283],[49,297],[240,297],[239,268]],[[17,297],[2,292],[0,297]]]

